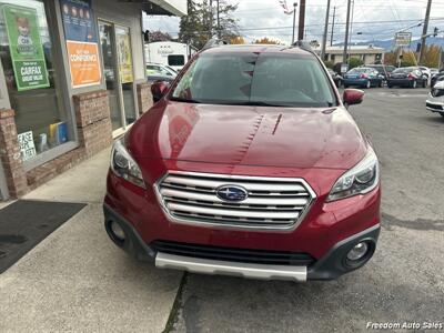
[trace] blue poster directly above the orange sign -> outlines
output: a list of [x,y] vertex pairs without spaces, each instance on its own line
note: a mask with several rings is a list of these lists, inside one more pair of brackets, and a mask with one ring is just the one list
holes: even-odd
[[91,0],[60,0],[60,6],[65,40],[98,41]]

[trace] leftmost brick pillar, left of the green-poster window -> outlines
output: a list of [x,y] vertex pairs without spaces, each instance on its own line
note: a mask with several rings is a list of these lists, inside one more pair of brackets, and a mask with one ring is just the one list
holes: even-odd
[[0,160],[10,196],[18,198],[27,193],[28,184],[20,157],[14,111],[11,109],[0,110]]

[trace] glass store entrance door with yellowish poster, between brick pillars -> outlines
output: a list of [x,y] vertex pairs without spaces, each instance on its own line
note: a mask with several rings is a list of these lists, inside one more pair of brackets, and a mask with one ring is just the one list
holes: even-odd
[[120,132],[137,119],[130,29],[99,21],[99,31],[112,129]]

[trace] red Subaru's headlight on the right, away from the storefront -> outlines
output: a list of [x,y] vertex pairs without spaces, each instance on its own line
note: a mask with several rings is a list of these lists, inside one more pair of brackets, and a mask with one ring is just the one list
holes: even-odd
[[369,193],[377,186],[379,182],[380,165],[377,158],[373,149],[369,148],[365,158],[336,181],[326,201]]

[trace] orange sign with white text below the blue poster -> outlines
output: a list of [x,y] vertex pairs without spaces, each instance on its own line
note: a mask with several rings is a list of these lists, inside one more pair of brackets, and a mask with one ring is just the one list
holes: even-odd
[[100,59],[97,43],[67,41],[72,87],[99,84]]

